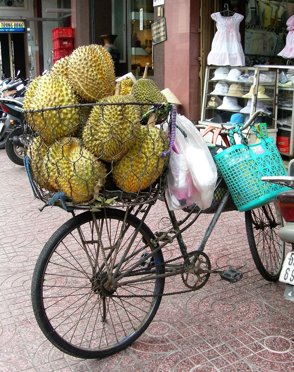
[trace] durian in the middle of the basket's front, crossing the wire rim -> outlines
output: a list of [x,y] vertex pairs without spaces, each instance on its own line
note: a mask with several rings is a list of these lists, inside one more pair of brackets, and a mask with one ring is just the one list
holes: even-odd
[[[105,103],[134,102],[130,95],[104,97]],[[140,133],[138,105],[94,106],[83,131],[83,144],[104,161],[118,161]]]

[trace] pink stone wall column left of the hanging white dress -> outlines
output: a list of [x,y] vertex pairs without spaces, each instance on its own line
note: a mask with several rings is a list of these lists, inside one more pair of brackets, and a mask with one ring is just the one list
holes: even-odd
[[198,120],[200,0],[165,1],[164,87],[182,103],[180,113]]

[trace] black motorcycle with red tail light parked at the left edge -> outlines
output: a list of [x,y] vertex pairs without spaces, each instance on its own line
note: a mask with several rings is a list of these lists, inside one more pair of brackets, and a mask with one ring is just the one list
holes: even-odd
[[[0,99],[1,108],[7,114],[0,131],[0,138],[8,132],[5,144],[6,154],[13,163],[18,165],[24,165],[23,160],[25,158],[22,103],[23,97]],[[28,138],[30,135],[28,133],[26,137]]]

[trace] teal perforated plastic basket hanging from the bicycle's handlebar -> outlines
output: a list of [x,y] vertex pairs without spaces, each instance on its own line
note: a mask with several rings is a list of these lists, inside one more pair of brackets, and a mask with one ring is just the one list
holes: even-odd
[[[230,132],[230,137],[238,133],[243,138],[238,125]],[[274,139],[262,138],[257,132],[256,137],[260,142],[232,145],[214,156],[240,212],[266,205],[281,191],[290,190],[288,187],[261,181],[264,176],[287,176],[287,170]]]

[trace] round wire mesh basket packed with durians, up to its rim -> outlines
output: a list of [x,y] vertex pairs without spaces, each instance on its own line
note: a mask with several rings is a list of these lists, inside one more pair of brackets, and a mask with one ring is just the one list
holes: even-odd
[[142,102],[24,111],[35,196],[68,210],[155,202],[165,190],[172,113]]

